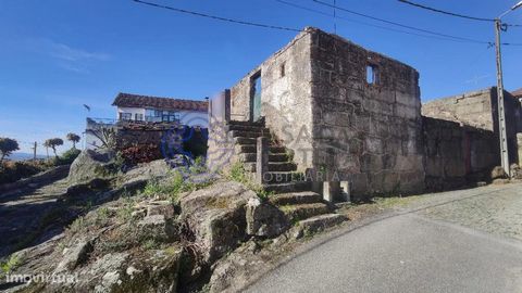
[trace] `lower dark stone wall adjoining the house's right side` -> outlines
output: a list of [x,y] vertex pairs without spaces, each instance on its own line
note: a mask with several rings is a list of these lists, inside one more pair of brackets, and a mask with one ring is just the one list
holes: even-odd
[[493,131],[423,117],[426,189],[442,191],[487,180],[500,163]]

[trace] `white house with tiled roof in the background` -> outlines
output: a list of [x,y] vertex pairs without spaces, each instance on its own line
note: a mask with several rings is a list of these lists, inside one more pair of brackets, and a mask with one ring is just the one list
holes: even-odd
[[207,101],[119,93],[112,105],[116,106],[119,120],[178,122],[201,128],[209,124]]

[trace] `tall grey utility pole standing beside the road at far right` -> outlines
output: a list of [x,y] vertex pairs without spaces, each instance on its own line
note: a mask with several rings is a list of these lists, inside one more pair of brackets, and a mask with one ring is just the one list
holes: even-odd
[[511,177],[509,170],[508,136],[506,132],[506,104],[504,102],[504,79],[502,79],[502,52],[500,49],[500,31],[502,22],[495,20],[495,48],[497,52],[497,103],[498,103],[498,138],[500,139],[500,163],[506,174]]

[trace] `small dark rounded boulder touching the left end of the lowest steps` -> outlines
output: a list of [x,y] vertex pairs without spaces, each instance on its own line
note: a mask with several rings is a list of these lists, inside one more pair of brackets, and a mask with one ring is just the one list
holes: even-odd
[[289,222],[277,207],[250,199],[247,203],[247,233],[262,238],[274,238],[285,232]]

